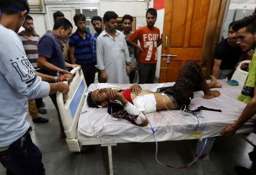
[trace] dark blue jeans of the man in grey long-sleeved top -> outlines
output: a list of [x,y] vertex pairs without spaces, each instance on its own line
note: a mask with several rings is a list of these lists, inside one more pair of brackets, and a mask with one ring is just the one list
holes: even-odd
[[6,174],[44,175],[42,153],[32,142],[27,131],[21,138],[9,146],[9,149],[0,152],[0,161],[6,168]]

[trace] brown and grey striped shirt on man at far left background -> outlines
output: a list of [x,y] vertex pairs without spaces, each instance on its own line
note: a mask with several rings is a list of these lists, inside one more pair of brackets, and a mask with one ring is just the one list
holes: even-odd
[[35,69],[38,69],[38,42],[40,40],[39,35],[33,33],[33,37],[31,39],[28,39],[27,36],[24,36],[24,31],[18,33],[18,35],[22,40],[22,44],[28,60],[32,63],[32,66]]

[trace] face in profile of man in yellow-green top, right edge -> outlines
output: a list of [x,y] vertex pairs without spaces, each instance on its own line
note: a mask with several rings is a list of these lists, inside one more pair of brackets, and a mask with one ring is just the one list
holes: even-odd
[[246,27],[243,27],[237,31],[237,38],[237,45],[240,46],[243,52],[255,49],[256,33],[246,32]]

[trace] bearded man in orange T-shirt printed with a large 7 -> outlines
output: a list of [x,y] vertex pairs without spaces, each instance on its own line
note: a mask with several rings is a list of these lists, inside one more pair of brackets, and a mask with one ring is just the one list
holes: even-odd
[[[126,41],[141,50],[139,55],[139,84],[154,83],[157,49],[162,44],[159,28],[154,27],[157,12],[154,8],[148,8],[146,12],[147,25],[138,28],[127,37]],[[134,40],[139,40],[139,46]]]

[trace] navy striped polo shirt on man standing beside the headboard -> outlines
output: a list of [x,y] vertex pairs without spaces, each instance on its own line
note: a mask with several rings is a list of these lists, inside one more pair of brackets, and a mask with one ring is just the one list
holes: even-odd
[[96,59],[92,56],[92,47],[90,46],[90,39],[92,35],[85,32],[85,40],[76,31],[69,37],[69,47],[75,48],[75,58],[77,64],[95,63]]

